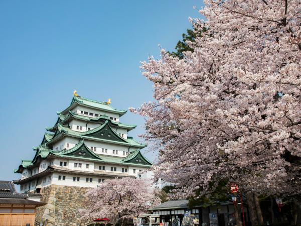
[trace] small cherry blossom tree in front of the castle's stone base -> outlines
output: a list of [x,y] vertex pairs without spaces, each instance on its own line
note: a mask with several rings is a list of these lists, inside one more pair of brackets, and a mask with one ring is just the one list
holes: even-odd
[[83,218],[107,217],[112,222],[120,218],[122,225],[152,205],[159,204],[159,198],[149,182],[132,177],[106,180],[99,187],[89,190],[86,197],[86,208],[80,210]]

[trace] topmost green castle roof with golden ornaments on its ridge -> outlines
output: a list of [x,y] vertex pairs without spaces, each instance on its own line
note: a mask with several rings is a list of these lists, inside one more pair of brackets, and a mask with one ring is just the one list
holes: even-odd
[[112,107],[110,104],[98,100],[87,99],[82,96],[73,96],[70,105],[65,109],[59,112],[60,114],[67,114],[70,109],[76,105],[82,105],[87,107],[92,107],[94,109],[104,110],[107,112],[113,112],[122,116],[126,113],[127,110],[118,110]]

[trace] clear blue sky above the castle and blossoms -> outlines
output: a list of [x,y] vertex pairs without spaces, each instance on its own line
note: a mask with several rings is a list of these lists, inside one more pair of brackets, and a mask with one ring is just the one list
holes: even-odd
[[[159,57],[158,44],[174,49],[199,17],[193,6],[202,1],[0,1],[0,180],[20,177],[13,169],[34,157],[74,89],[121,109],[152,100],[139,62]],[[121,121],[143,133],[140,116]]]

